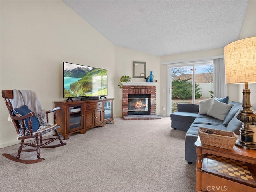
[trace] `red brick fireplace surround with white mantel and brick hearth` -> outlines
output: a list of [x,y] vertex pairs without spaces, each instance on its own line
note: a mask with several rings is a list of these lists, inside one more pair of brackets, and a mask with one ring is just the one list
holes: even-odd
[[[143,95],[149,96],[149,115],[129,115],[129,95],[138,95],[140,98]],[[123,118],[124,120],[160,119],[156,116],[156,85],[154,83],[123,83]]]

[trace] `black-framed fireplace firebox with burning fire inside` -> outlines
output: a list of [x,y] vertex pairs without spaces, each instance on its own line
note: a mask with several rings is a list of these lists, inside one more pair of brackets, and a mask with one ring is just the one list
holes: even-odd
[[128,96],[128,115],[150,114],[150,95],[141,94]]

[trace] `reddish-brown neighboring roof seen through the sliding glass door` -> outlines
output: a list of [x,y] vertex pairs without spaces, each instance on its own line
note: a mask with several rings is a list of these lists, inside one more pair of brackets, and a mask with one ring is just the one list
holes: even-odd
[[[177,79],[190,79],[190,81],[193,80],[192,74],[183,74],[179,75],[174,80]],[[213,83],[213,73],[198,73],[196,74],[196,83]]]

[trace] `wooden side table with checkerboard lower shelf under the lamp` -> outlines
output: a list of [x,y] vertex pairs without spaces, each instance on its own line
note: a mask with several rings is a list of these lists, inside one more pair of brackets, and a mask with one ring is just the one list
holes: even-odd
[[[238,136],[239,137],[239,136]],[[196,146],[196,192],[256,191],[256,151],[234,146],[232,150]]]

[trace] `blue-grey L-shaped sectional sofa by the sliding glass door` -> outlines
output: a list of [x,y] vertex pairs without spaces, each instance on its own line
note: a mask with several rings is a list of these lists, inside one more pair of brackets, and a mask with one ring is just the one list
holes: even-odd
[[185,160],[188,164],[196,162],[196,147],[194,143],[198,138],[199,127],[212,128],[217,130],[233,131],[239,133],[242,127],[236,116],[242,109],[242,103],[230,102],[232,105],[227,115],[223,120],[214,118],[207,114],[198,114],[198,104],[178,103],[177,111],[173,112],[171,116],[171,126],[174,129],[186,131],[185,136]]

